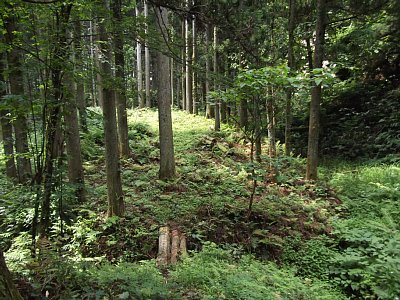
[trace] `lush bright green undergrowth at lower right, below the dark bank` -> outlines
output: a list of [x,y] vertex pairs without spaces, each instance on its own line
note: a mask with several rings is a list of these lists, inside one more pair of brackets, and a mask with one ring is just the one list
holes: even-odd
[[399,297],[399,182],[398,166],[364,166],[332,179],[349,213],[335,226],[344,249],[333,260],[332,274],[359,297]]

